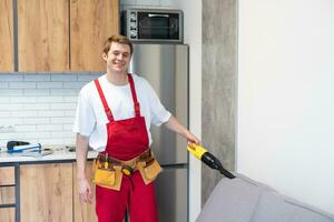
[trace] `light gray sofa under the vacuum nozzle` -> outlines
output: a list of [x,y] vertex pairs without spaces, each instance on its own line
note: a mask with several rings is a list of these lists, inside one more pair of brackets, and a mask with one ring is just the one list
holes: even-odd
[[238,174],[222,179],[196,222],[334,222],[334,218]]

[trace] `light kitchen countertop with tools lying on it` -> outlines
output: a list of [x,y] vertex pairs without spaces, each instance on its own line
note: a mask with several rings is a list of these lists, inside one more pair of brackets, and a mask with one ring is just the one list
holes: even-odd
[[[26,153],[8,153],[0,151],[0,163],[12,162],[36,162],[36,161],[61,161],[61,160],[76,160],[76,152],[70,152],[67,149],[53,149],[52,153],[46,155],[27,157]],[[94,159],[98,154],[97,151],[88,151],[88,159]]]

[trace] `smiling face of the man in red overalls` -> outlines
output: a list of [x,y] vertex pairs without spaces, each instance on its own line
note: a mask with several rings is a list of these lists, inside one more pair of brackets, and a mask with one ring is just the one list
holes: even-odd
[[111,42],[108,54],[104,53],[102,58],[111,72],[126,73],[131,59],[130,47],[128,44]]

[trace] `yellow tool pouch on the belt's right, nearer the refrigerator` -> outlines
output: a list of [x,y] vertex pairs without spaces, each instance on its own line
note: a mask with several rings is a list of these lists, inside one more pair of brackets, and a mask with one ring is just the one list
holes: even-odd
[[163,171],[158,161],[153,157],[148,162],[139,161],[137,168],[141,174],[145,184],[153,182],[158,174]]

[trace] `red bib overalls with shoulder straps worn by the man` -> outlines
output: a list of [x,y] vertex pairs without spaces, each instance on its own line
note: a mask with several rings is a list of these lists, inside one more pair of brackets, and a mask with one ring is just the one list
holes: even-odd
[[[109,120],[107,123],[108,141],[104,153],[125,161],[138,157],[148,149],[145,118],[140,117],[140,107],[131,74],[128,74],[128,80],[135,117],[118,121],[114,120],[99,81],[95,80]],[[130,176],[124,174],[120,191],[96,185],[96,212],[99,222],[121,222],[127,206],[131,222],[158,221],[154,182],[146,185],[139,171]]]

